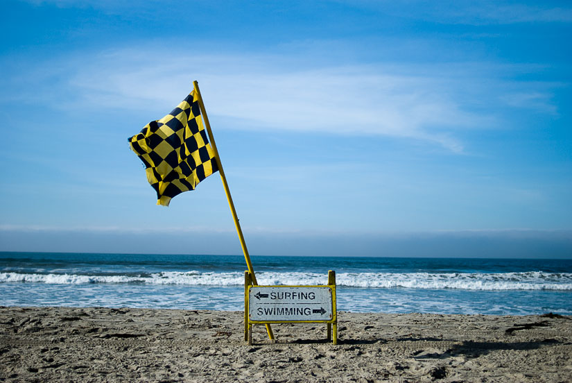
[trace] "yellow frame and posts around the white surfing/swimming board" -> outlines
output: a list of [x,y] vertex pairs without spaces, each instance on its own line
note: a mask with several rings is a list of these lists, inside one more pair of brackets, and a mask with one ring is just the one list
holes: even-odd
[[[314,321],[252,321],[249,312],[249,302],[248,296],[250,288],[253,286],[257,287],[329,287],[331,289],[331,310],[332,316],[328,320],[314,320]],[[244,340],[248,342],[248,345],[252,345],[252,326],[256,324],[269,325],[270,323],[326,323],[327,339],[332,341],[334,345],[338,344],[338,313],[336,310],[336,272],[328,271],[328,284],[318,284],[318,285],[257,285],[252,280],[252,275],[249,271],[244,272]]]

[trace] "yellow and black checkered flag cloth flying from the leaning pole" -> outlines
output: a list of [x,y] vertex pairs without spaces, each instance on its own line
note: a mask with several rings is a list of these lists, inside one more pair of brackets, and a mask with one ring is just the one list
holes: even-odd
[[195,189],[198,182],[218,171],[195,90],[173,112],[151,121],[129,142],[145,164],[147,180],[157,191],[157,205],[168,206],[171,198]]

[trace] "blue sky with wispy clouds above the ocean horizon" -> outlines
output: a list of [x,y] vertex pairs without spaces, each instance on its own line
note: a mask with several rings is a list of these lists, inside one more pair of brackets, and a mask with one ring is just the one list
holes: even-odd
[[0,251],[240,254],[128,146],[197,80],[252,255],[572,257],[569,1],[0,12]]

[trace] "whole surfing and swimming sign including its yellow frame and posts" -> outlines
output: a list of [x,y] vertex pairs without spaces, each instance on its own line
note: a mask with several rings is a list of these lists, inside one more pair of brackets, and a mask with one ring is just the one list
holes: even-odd
[[328,284],[257,286],[245,271],[245,341],[252,344],[252,325],[270,323],[326,323],[327,339],[337,339],[336,273]]

